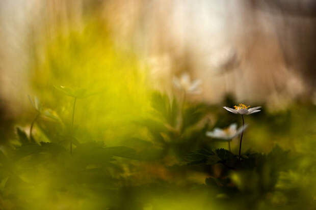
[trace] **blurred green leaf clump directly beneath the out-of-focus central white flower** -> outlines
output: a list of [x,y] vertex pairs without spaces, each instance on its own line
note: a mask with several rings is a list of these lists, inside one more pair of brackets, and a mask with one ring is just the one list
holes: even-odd
[[153,92],[151,107],[151,116],[138,125],[148,130],[148,141],[161,149],[161,158],[174,154],[181,161],[190,151],[207,146],[207,124],[202,122],[207,113],[206,105],[186,103],[180,106],[175,97],[170,99],[166,94]]

